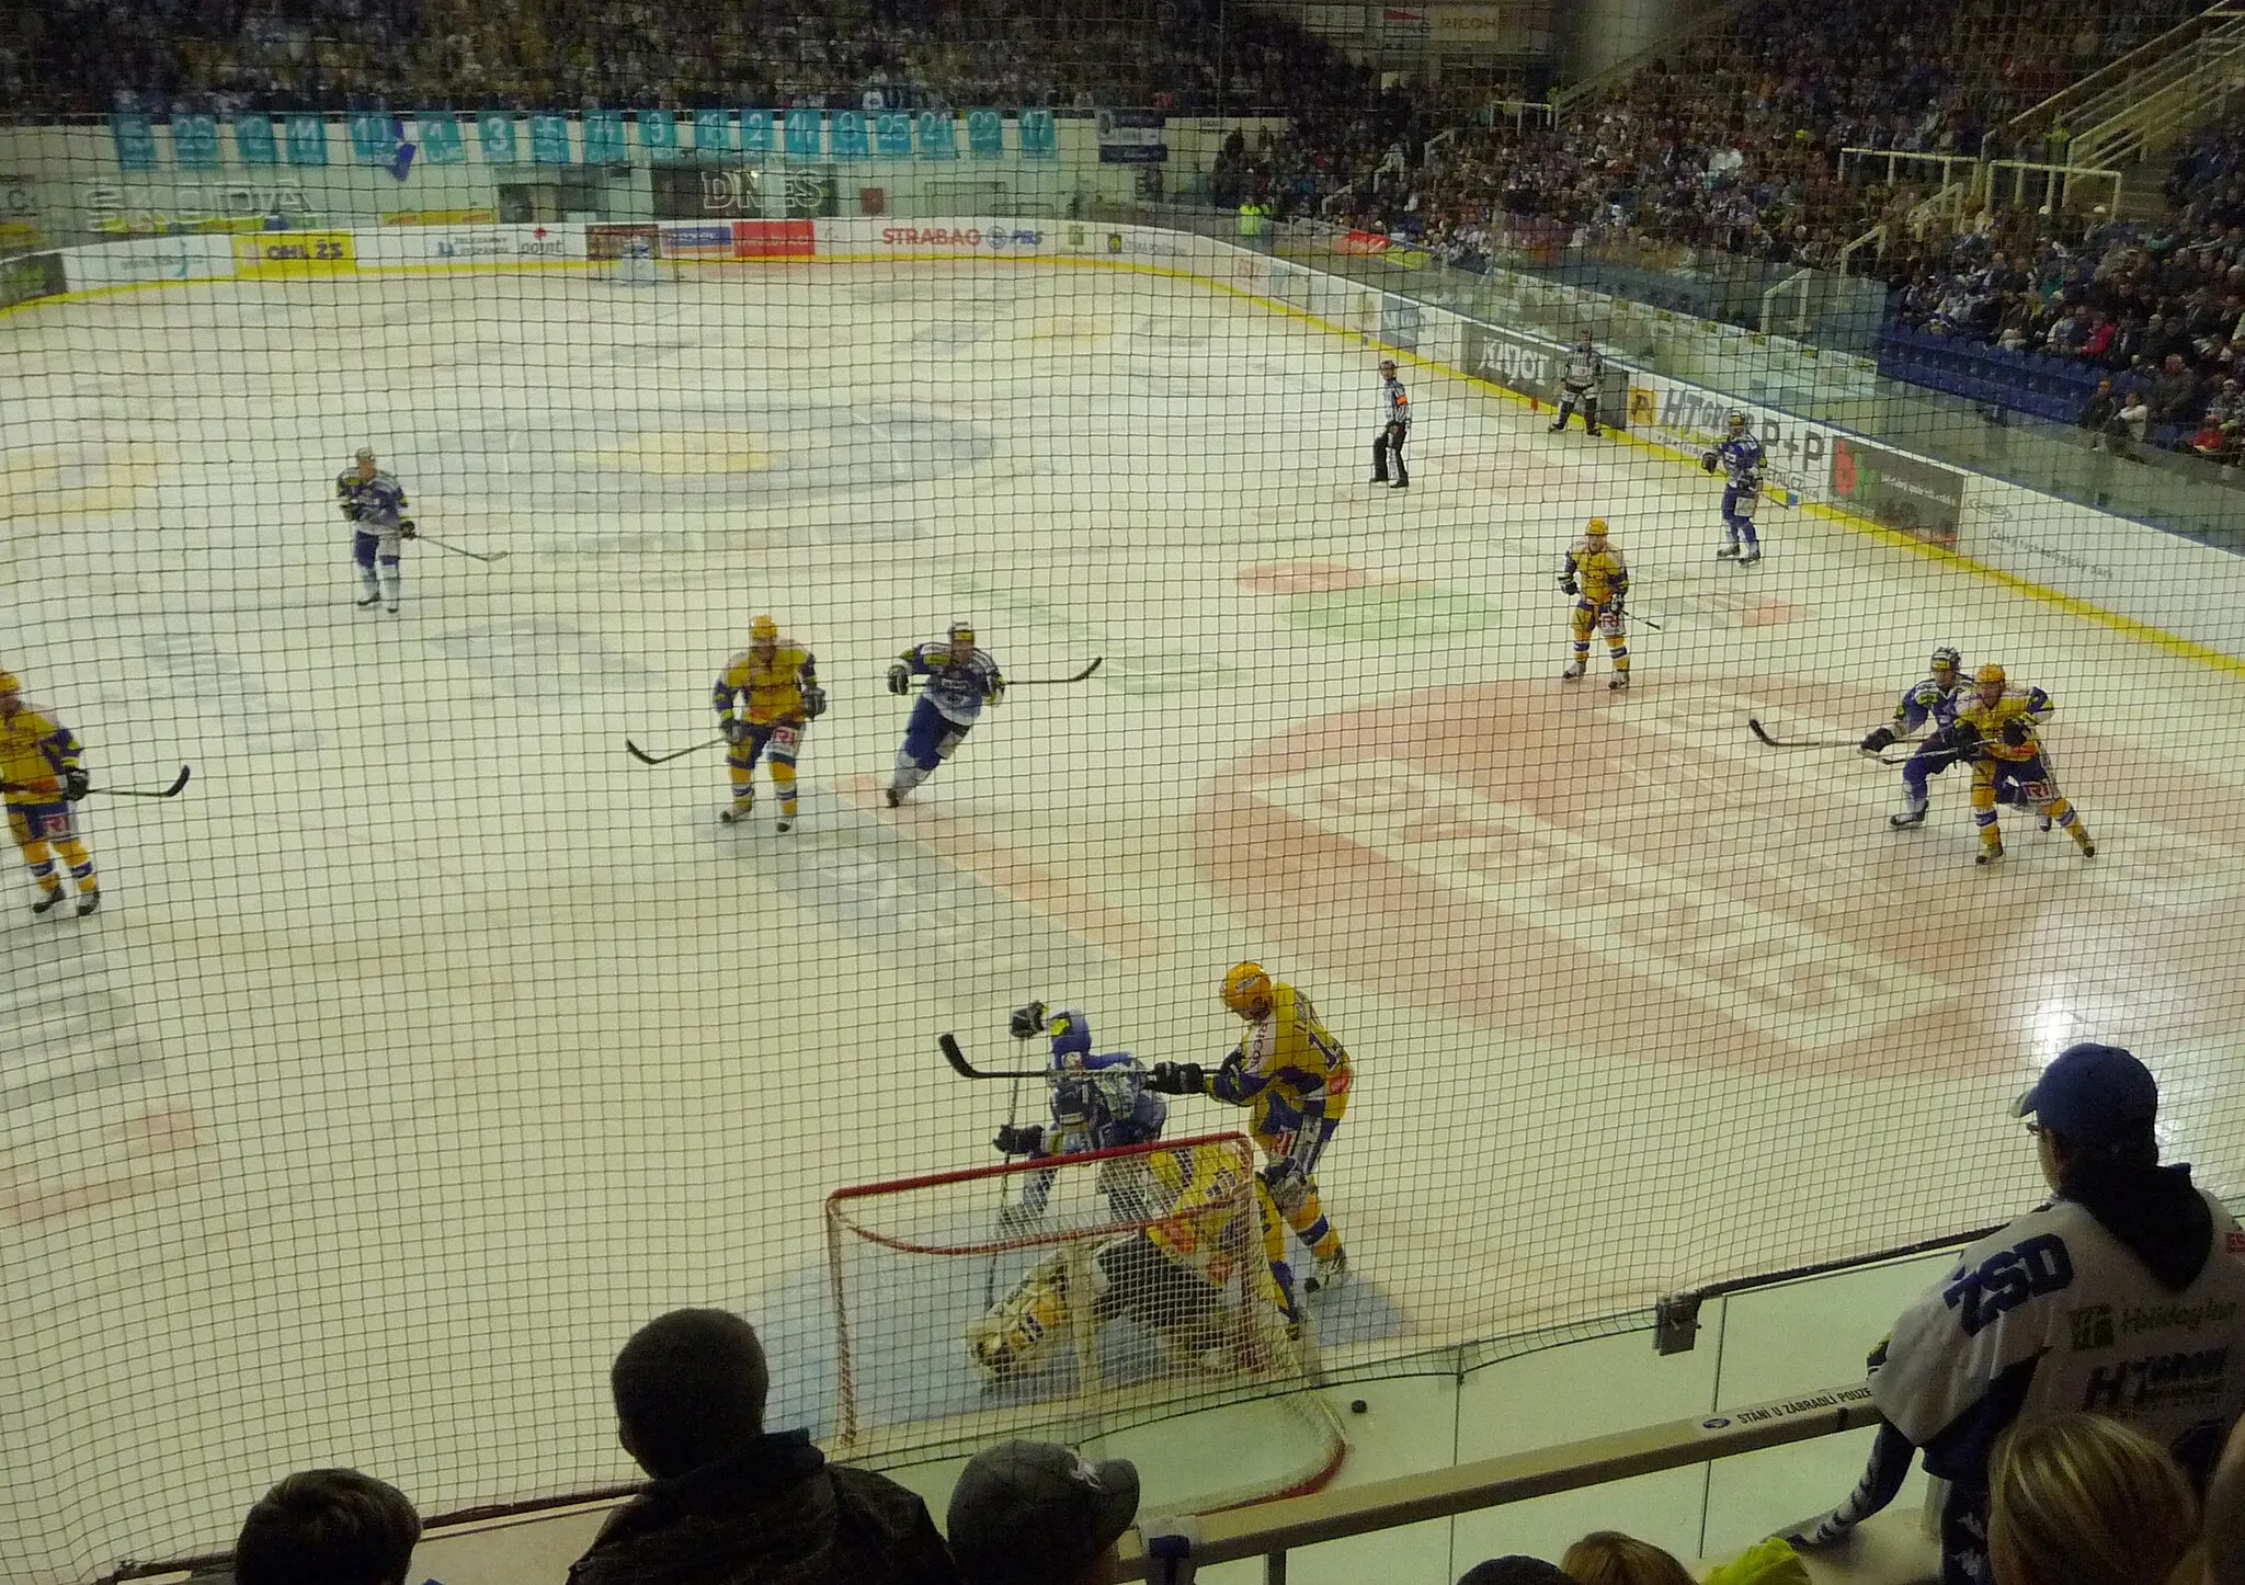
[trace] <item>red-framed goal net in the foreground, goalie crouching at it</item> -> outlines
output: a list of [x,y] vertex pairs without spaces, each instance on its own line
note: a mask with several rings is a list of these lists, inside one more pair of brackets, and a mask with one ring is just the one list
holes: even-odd
[[853,1457],[1082,1439],[1313,1374],[1241,1134],[844,1188],[826,1253]]

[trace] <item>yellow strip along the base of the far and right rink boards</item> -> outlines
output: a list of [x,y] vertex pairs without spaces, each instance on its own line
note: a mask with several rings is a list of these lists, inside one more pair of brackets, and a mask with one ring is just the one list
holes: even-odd
[[[1219,247],[1221,247],[1221,242],[1219,242]],[[1262,254],[1257,254],[1257,256],[1262,256]],[[1291,260],[1280,260],[1275,256],[1271,256],[1271,258],[1273,258],[1273,263],[1286,263],[1286,265],[1291,265],[1295,269],[1313,269],[1311,265],[1293,265]],[[1414,352],[1410,348],[1396,348],[1396,346],[1390,346],[1385,341],[1378,341],[1372,335],[1365,335],[1365,332],[1358,332],[1358,330],[1349,330],[1347,326],[1336,326],[1331,319],[1325,319],[1322,314],[1311,314],[1309,310],[1295,308],[1293,303],[1284,303],[1280,299],[1264,296],[1262,292],[1250,292],[1246,287],[1233,285],[1230,281],[1217,281],[1215,276],[1201,274],[1199,269],[1185,269],[1185,267],[1176,267],[1176,265],[1154,265],[1154,263],[1143,263],[1143,260],[1136,260],[1136,258],[1102,258],[1102,256],[1071,258],[1071,256],[1051,256],[1051,254],[1004,254],[1004,251],[979,251],[979,249],[927,251],[927,254],[858,251],[858,249],[853,249],[853,251],[837,251],[837,254],[813,254],[808,258],[801,258],[801,256],[788,256],[788,258],[680,258],[680,260],[669,260],[669,263],[689,265],[694,269],[739,267],[739,265],[752,265],[752,267],[761,269],[761,267],[775,267],[775,265],[777,267],[790,267],[790,265],[860,265],[860,263],[889,263],[889,265],[918,265],[918,263],[927,263],[927,265],[950,265],[950,263],[968,263],[968,260],[986,263],[986,265],[1044,265],[1044,267],[1057,265],[1062,269],[1109,269],[1109,272],[1118,272],[1118,274],[1143,274],[1143,276],[1163,276],[1163,278],[1170,278],[1170,281],[1192,281],[1197,285],[1212,287],[1212,290],[1224,292],[1228,296],[1237,296],[1244,303],[1255,303],[1257,308],[1262,308],[1266,312],[1273,312],[1273,314],[1280,314],[1282,319],[1298,319],[1304,326],[1313,326],[1316,330],[1325,330],[1325,332],[1343,337],[1347,341],[1356,341],[1358,346],[1363,346],[1363,343],[1369,341],[1374,346],[1387,348],[1390,352],[1394,352],[1399,359],[1403,359],[1412,368],[1423,368],[1423,370],[1430,370],[1430,373],[1448,375],[1453,379],[1464,379],[1468,386],[1477,386],[1477,388],[1482,388],[1482,391],[1486,391],[1486,393],[1491,393],[1495,397],[1509,400],[1513,406],[1533,406],[1533,409],[1540,409],[1540,400],[1538,397],[1522,395],[1520,391],[1511,391],[1509,386],[1500,386],[1493,379],[1482,379],[1479,375],[1470,375],[1464,368],[1455,368],[1450,364],[1437,361],[1437,359],[1426,357],[1421,352]],[[615,260],[604,260],[604,258],[602,260],[593,260],[593,258],[489,258],[489,260],[474,260],[474,258],[469,258],[469,260],[458,260],[458,263],[447,263],[447,265],[357,265],[355,263],[352,267],[346,267],[346,269],[310,269],[310,272],[276,269],[272,274],[249,274],[249,276],[236,274],[236,276],[186,276],[182,281],[126,281],[126,283],[117,283],[117,285],[88,287],[88,290],[81,290],[81,292],[56,292],[54,296],[38,296],[38,299],[31,299],[27,303],[13,303],[11,308],[0,308],[0,319],[7,319],[11,314],[20,314],[20,312],[31,310],[31,308],[47,308],[47,305],[61,305],[61,303],[90,303],[90,301],[94,301],[99,296],[114,296],[114,294],[121,294],[121,292],[150,292],[150,290],[180,287],[180,285],[224,285],[224,283],[267,285],[272,281],[339,281],[343,276],[355,276],[355,274],[359,274],[359,276],[431,276],[431,274],[496,274],[496,272],[525,272],[525,269],[590,269],[593,265],[606,265],[606,263],[615,263]],[[1322,272],[1318,272],[1318,274],[1322,274]],[[1354,287],[1354,290],[1360,290],[1360,292],[1376,292],[1381,296],[1392,296],[1392,292],[1387,292],[1387,287],[1372,285],[1367,281],[1351,281],[1349,276],[1327,276],[1327,278],[1329,281],[1338,281],[1340,285]],[[1435,308],[1439,308],[1439,305],[1435,305]],[[1455,312],[1455,310],[1444,310],[1444,312]],[[1464,321],[1464,317],[1459,317],[1459,319]],[[1666,379],[1668,375],[1661,375],[1661,377]],[[1706,388],[1706,386],[1702,386],[1702,388]],[[1720,393],[1715,393],[1715,395],[1720,395]],[[1816,420],[1803,420],[1803,422],[1816,422]],[[1825,429],[1836,429],[1834,424],[1823,424],[1823,427]],[[1854,431],[1843,431],[1843,433],[1852,436]],[[1650,453],[1657,453],[1657,456],[1666,456],[1666,458],[1673,458],[1677,462],[1690,462],[1693,460],[1690,453],[1686,453],[1686,451],[1677,451],[1675,447],[1670,447],[1670,445],[1666,445],[1661,440],[1646,440],[1646,438],[1641,438],[1641,436],[1637,436],[1637,433],[1632,433],[1628,429],[1610,431],[1610,436],[1614,440],[1623,442],[1623,445],[1637,447],[1639,451],[1650,451]],[[1888,445],[1888,442],[1877,440],[1872,436],[1861,436],[1861,440],[1866,440],[1868,445]],[[1933,462],[1933,467],[1946,467],[1946,469],[1951,469],[1951,471],[1955,471],[1960,476],[1973,476],[1976,474],[1976,469],[1960,469],[1960,467],[1953,467],[1949,462]],[[1991,478],[1991,476],[1982,474],[1982,478]],[[2007,483],[2007,480],[2000,480],[2000,483]],[[2063,593],[2059,588],[2050,588],[2047,584],[2036,584],[2029,577],[2020,577],[2016,572],[2005,572],[2003,568],[1989,566],[1987,561],[1980,561],[1978,557],[1969,557],[1969,555],[1964,555],[1960,550],[1949,550],[1944,546],[1928,543],[1928,541],[1917,539],[1913,534],[1895,532],[1895,530],[1886,528],[1884,523],[1875,523],[1868,516],[1859,516],[1854,512],[1845,512],[1841,507],[1825,505],[1825,503],[1814,503],[1812,501],[1812,503],[1800,503],[1798,507],[1792,507],[1792,510],[1814,514],[1814,516],[1825,519],[1830,523],[1839,523],[1843,528],[1850,528],[1850,530],[1854,530],[1854,532],[1859,532],[1859,534],[1863,534],[1868,539],[1875,539],[1875,541],[1879,541],[1884,546],[1890,546],[1895,550],[1908,550],[1910,555],[1924,557],[1926,561],[1935,561],[1940,566],[1949,566],[1949,568],[1955,568],[1960,572],[1969,572],[1969,575],[1980,577],[1980,579],[1985,579],[1985,581],[1989,581],[1989,584],[1994,584],[1998,588],[2005,588],[2005,590],[2009,590],[2014,595],[2023,595],[2027,599],[2045,604],[2052,611],[2063,611],[2070,617],[2081,617],[2083,622],[2090,622],[2095,626],[2104,626],[2104,629],[2108,629],[2113,633],[2119,633],[2124,638],[2133,638],[2137,642],[2151,644],[2153,649],[2164,649],[2166,653],[2178,656],[2182,660],[2193,660],[2198,665],[2205,665],[2205,667],[2209,667],[2214,671],[2223,671],[2227,676],[2245,676],[2245,660],[2241,660],[2238,656],[2223,653],[2220,649],[2214,649],[2209,644],[2200,644],[2198,640],[2191,640],[2191,638],[2182,638],[2180,633],[2169,633],[2166,629],[2153,626],[2151,622],[2137,622],[2135,617],[2122,615],[2119,611],[2108,611],[2108,608],[2104,608],[2104,606],[2099,606],[2099,604],[2095,604],[2090,599],[2081,599],[2077,595],[2068,595],[2068,593]],[[2151,528],[2146,532],[2157,534],[2162,530]]]

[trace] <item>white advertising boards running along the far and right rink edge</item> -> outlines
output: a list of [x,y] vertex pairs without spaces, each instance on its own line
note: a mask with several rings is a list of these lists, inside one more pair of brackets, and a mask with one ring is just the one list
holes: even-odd
[[[647,225],[647,222],[642,222]],[[1161,227],[1039,218],[660,222],[680,267],[761,267],[824,258],[999,258],[1062,267],[1149,269],[1356,337],[1367,348],[1518,402],[1549,395],[1558,343],[1484,326],[1378,285]],[[581,269],[602,256],[602,225],[413,225],[314,231],[189,233],[99,242],[45,256],[61,269],[18,287],[18,310],[61,296],[191,281],[292,278],[418,269]],[[613,256],[613,251],[611,251]],[[1502,352],[1502,355],[1500,355]],[[1740,364],[1738,388],[1767,388]],[[1621,366],[1619,431],[1697,462],[1729,411],[1751,415],[1780,505],[1843,521],[1897,550],[1946,561],[2074,615],[2223,669],[2245,669],[2245,559],[2144,523],[1908,453],[1836,424],[1805,420],[1735,391]],[[2175,590],[2196,590],[2178,599]]]

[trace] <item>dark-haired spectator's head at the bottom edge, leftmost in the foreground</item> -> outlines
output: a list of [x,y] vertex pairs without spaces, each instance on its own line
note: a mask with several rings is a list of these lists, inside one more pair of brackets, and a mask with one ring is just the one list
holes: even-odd
[[402,1585],[420,1540],[406,1495],[359,1471],[299,1471],[233,1542],[236,1585]]

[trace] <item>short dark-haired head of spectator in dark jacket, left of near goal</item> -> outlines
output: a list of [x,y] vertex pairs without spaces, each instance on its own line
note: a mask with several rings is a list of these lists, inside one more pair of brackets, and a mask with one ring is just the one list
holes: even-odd
[[761,1437],[772,1376],[745,1320],[723,1309],[674,1309],[631,1334],[608,1385],[624,1450],[667,1479]]

